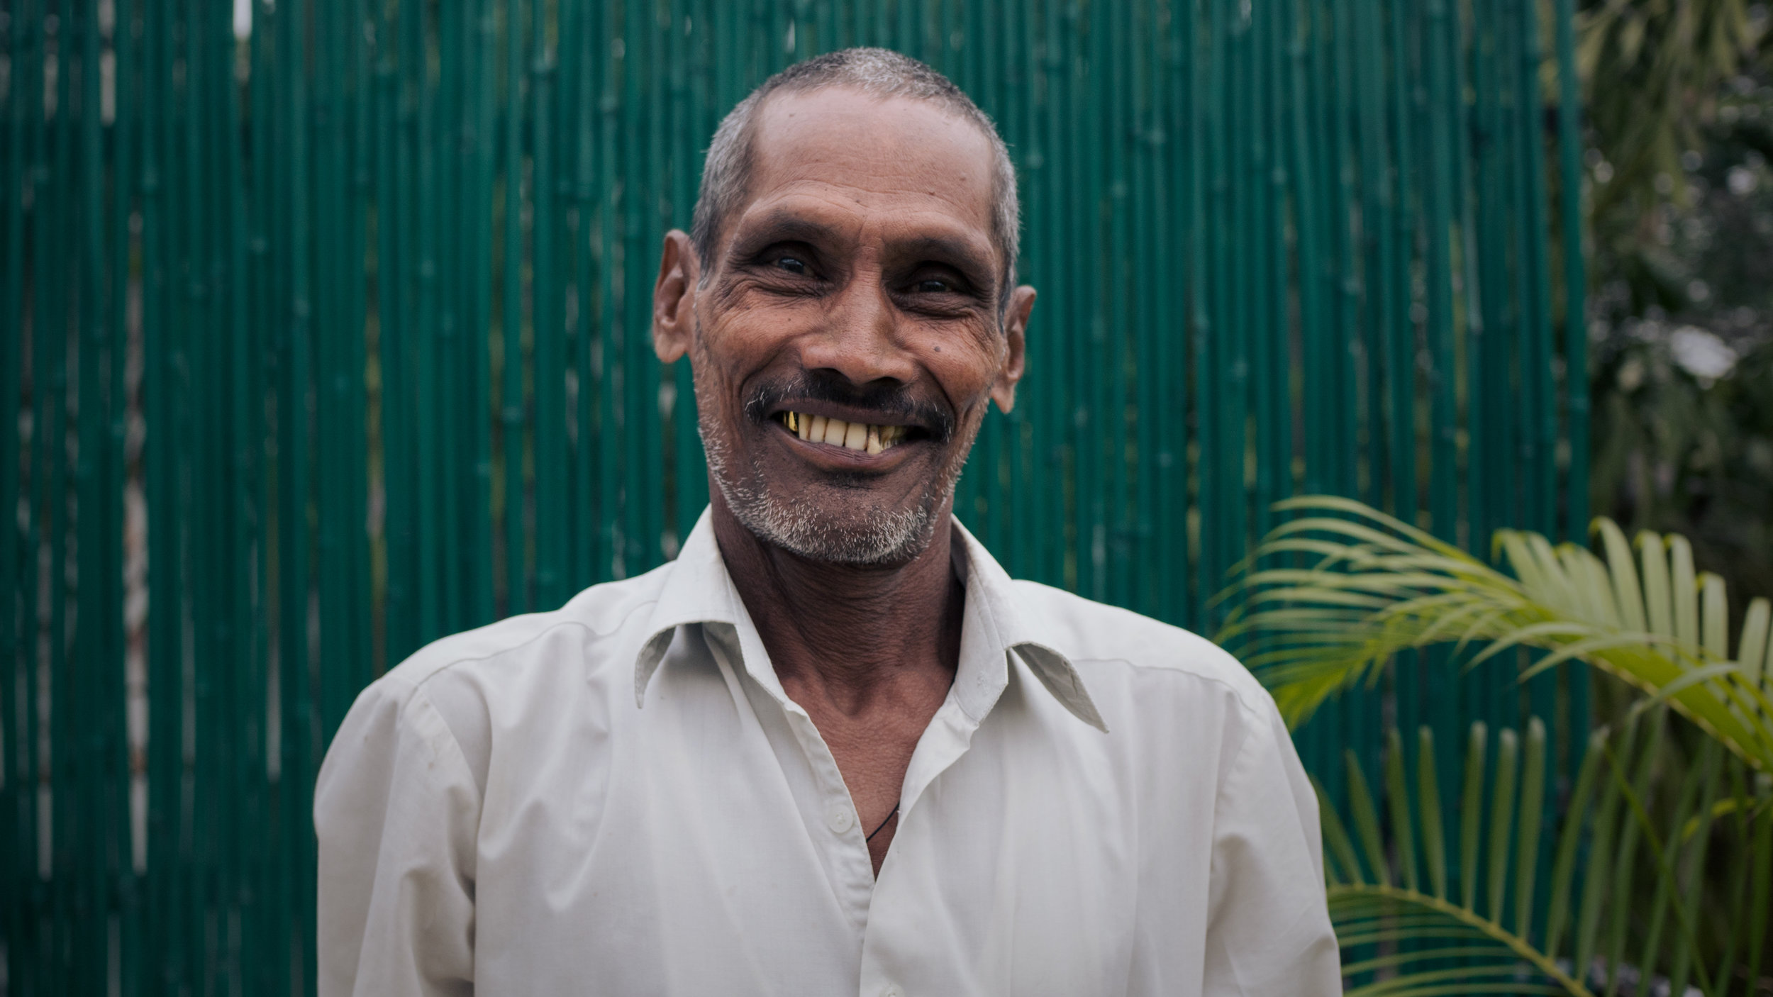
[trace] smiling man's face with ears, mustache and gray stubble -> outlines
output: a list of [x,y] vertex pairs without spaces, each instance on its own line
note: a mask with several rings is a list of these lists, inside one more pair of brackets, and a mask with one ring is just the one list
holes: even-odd
[[676,300],[661,273],[660,355],[690,351],[709,468],[754,534],[910,561],[1021,376],[1034,291],[1000,312],[991,144],[931,103],[824,89],[771,98],[752,154],[700,287],[683,239]]

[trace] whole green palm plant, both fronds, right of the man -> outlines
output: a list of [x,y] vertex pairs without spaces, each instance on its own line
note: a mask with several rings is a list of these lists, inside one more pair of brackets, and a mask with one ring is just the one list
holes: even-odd
[[[1594,734],[1555,807],[1537,718],[1525,745],[1498,734],[1493,766],[1488,733],[1472,729],[1456,811],[1440,797],[1427,729],[1413,781],[1392,733],[1383,816],[1349,756],[1346,816],[1328,798],[1321,813],[1351,992],[1645,993],[1652,974],[1665,993],[1690,983],[1729,993],[1738,981],[1753,992],[1773,912],[1768,600],[1750,601],[1732,656],[1723,582],[1695,571],[1679,536],[1642,532],[1635,555],[1597,520],[1603,559],[1498,530],[1511,575],[1358,502],[1278,507],[1300,518],[1241,566],[1222,596],[1241,605],[1220,639],[1291,724],[1378,681],[1399,651],[1434,644],[1466,663],[1532,648],[1537,660],[1518,655],[1521,678],[1585,662],[1644,694],[1617,734]],[[1665,733],[1670,710],[1704,733],[1686,758]],[[1457,853],[1443,832],[1454,813]],[[1548,814],[1562,818],[1543,878]]]

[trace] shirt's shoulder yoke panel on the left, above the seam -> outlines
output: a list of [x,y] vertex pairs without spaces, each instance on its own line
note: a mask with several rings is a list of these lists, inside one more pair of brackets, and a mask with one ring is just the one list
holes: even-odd
[[388,669],[365,692],[406,695],[457,667],[488,660],[511,660],[525,646],[560,628],[578,628],[589,637],[613,635],[635,614],[652,608],[668,569],[667,562],[633,578],[592,585],[551,612],[509,616],[486,626],[440,637]]

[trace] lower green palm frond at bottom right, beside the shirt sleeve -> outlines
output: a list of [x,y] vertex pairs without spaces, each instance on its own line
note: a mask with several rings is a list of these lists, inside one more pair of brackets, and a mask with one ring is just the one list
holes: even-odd
[[[1456,837],[1443,830],[1427,727],[1418,733],[1415,779],[1401,734],[1390,731],[1383,818],[1349,752],[1346,818],[1319,797],[1326,889],[1344,974],[1378,979],[1347,993],[1589,997],[1612,993],[1621,983],[1636,983],[1633,992],[1644,993],[1647,977],[1660,972],[1665,993],[1684,993],[1693,983],[1709,995],[1725,993],[1736,972],[1753,979],[1762,958],[1755,940],[1766,937],[1773,887],[1773,813],[1768,800],[1746,795],[1741,779],[1723,779],[1725,752],[1706,742],[1700,772],[1663,807],[1658,825],[1647,807],[1663,734],[1660,708],[1628,722],[1619,736],[1594,733],[1562,811],[1550,869],[1539,866],[1550,788],[1539,718],[1527,726],[1525,743],[1514,731],[1500,731],[1495,765],[1488,763],[1484,724],[1472,726]],[[1752,853],[1752,867],[1732,880],[1738,889],[1725,898],[1720,933],[1700,917],[1707,899],[1702,873],[1713,825],[1732,816],[1732,841]],[[1640,910],[1629,898],[1642,894],[1633,876],[1645,867],[1652,901]],[[1537,924],[1535,891],[1546,871],[1550,903]]]

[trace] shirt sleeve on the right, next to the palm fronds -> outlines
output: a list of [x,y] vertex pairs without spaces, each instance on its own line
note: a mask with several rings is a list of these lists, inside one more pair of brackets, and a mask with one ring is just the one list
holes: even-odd
[[1342,993],[1317,797],[1271,703],[1220,782],[1204,997]]

